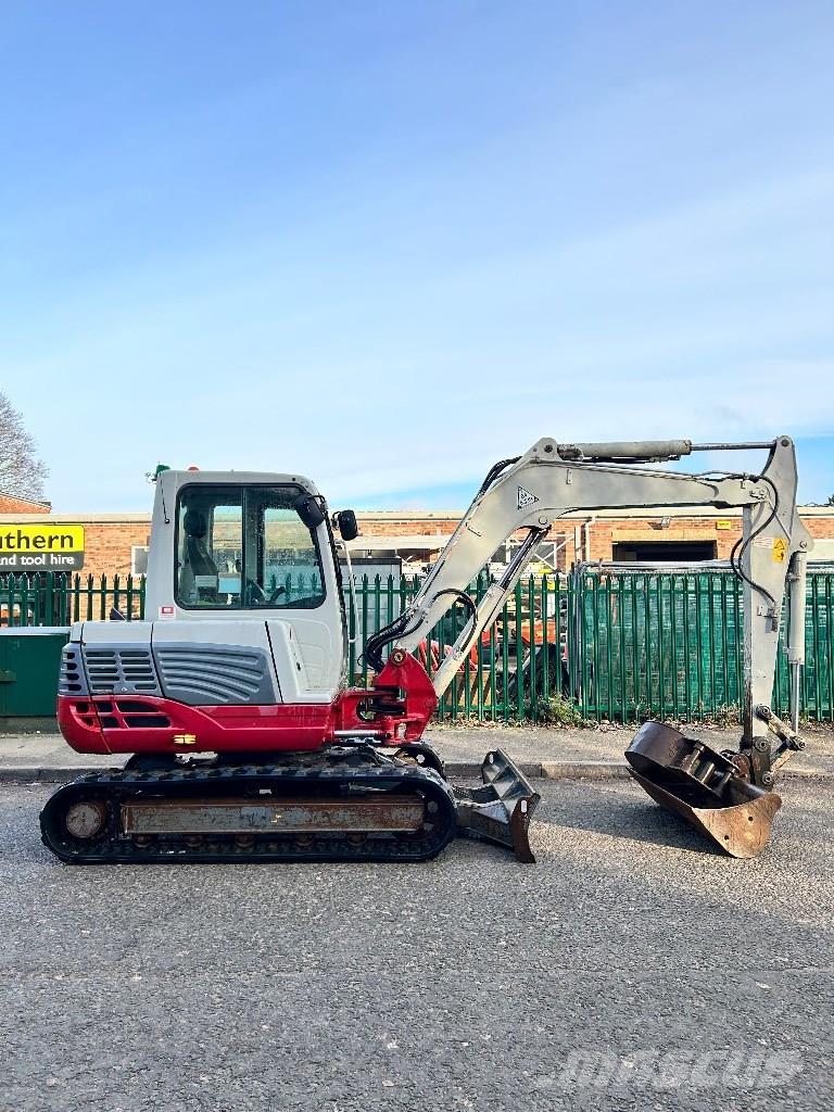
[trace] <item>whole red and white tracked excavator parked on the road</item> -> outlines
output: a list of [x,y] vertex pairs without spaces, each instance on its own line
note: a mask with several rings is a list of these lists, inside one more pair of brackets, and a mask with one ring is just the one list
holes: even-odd
[[[655,466],[742,448],[766,453],[761,471]],[[811,549],[787,437],[545,438],[496,464],[415,599],[367,641],[369,688],[346,681],[338,549],[357,535],[355,515],[330,516],[300,475],[160,467],[146,619],[76,624],[58,695],[75,749],[131,756],[54,793],[41,814],[46,844],[75,863],[423,861],[464,833],[533,861],[528,826],[539,796],[507,755],[487,754],[483,786],[453,787],[424,731],[557,518],[656,506],[743,509],[732,565],[744,583],[744,728],[738,751],[719,753],[647,723],[626,757],[658,803],[728,853],[754,856],[781,803],[774,772],[802,747],[798,706],[791,724],[770,708],[786,586],[790,662],[796,671],[803,662]],[[476,605],[467,585],[519,529],[526,539]],[[466,628],[429,678],[411,654],[456,599]]]

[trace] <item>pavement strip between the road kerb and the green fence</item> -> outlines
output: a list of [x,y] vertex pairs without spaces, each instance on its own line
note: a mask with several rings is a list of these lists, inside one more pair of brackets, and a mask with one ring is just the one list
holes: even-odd
[[[737,748],[738,731],[691,726],[692,736],[719,748]],[[477,775],[484,755],[503,748],[527,776],[613,778],[627,776],[623,753],[634,729],[547,729],[543,727],[460,728],[434,726],[426,733],[446,762],[450,776]],[[834,778],[834,729],[806,729],[807,748],[796,754],[783,776]],[[121,766],[126,757],[90,756],[72,751],[56,733],[0,733],[0,782],[62,784],[95,768]]]

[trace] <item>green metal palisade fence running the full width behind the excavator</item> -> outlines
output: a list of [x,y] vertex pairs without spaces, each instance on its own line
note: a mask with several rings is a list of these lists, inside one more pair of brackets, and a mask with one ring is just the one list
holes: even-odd
[[[309,593],[306,582],[282,585],[288,598]],[[371,681],[365,639],[399,615],[419,585],[409,577],[357,577],[356,606],[346,589],[353,682]],[[470,586],[475,602],[488,586],[486,577]],[[0,577],[3,626],[101,620],[111,608],[140,618],[143,607],[143,578]],[[570,707],[585,718],[620,722],[721,716],[742,702],[742,619],[743,593],[728,570],[585,567],[568,576],[530,576],[464,662],[438,716],[542,721]],[[834,568],[808,575],[805,622],[803,709],[834,721]],[[455,604],[419,647],[429,674],[465,623]],[[783,634],[788,623],[786,614]],[[790,682],[783,636],[773,704],[783,713]]]

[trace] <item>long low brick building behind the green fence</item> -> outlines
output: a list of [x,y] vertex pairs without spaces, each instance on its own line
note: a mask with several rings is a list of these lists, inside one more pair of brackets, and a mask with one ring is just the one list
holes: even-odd
[[[83,574],[123,576],[145,570],[150,514],[50,514],[48,505],[32,503],[21,513],[4,505],[0,496],[0,527],[82,525]],[[380,510],[357,516],[361,535],[351,544],[357,556],[399,556],[417,562],[435,558],[460,519],[459,512],[444,510]],[[815,538],[812,559],[834,559],[834,507],[801,507],[800,516]],[[556,523],[540,555],[559,568],[579,560],[726,559],[741,529],[741,510],[658,508],[652,514],[577,514]],[[500,553],[499,558],[506,555]]]

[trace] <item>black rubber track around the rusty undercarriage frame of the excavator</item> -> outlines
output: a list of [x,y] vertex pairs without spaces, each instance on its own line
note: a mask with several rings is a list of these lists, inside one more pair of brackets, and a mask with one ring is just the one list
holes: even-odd
[[[430,820],[415,833],[276,834],[163,834],[126,835],[120,808],[130,800],[175,800],[240,796],[270,788],[295,797],[364,791],[419,793],[428,806],[437,805]],[[110,804],[107,832],[97,840],[75,838],[63,815],[83,800]],[[153,864],[189,862],[305,862],[305,861],[428,861],[448,845],[456,833],[451,788],[437,773],[416,765],[347,768],[344,765],[291,767],[282,765],[220,765],[159,772],[108,771],[88,773],[60,787],[40,815],[43,844],[70,864]],[[361,838],[363,841],[359,841]],[[150,843],[150,844],[149,844]]]

